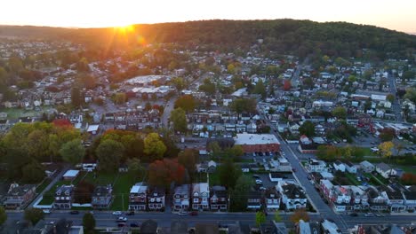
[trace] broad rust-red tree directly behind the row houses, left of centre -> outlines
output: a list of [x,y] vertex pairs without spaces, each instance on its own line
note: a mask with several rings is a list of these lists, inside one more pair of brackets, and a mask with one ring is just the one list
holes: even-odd
[[148,166],[148,183],[169,188],[172,182],[183,182],[185,168],[177,160],[156,160]]

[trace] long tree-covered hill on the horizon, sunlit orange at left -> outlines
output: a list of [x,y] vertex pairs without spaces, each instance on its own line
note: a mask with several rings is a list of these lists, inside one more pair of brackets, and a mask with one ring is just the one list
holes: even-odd
[[[21,30],[24,32],[22,33]],[[128,46],[145,43],[180,43],[207,49],[247,49],[263,39],[260,50],[356,57],[363,49],[374,58],[410,58],[416,50],[416,35],[381,27],[346,22],[318,23],[310,20],[202,20],[135,25],[134,30],[115,28],[0,27],[0,35],[34,35],[69,39],[76,43]]]

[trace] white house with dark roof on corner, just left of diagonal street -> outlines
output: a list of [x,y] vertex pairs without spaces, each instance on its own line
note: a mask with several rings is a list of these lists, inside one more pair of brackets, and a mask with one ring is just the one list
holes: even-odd
[[277,188],[282,194],[282,202],[284,203],[286,210],[307,207],[308,199],[299,185],[294,183],[279,182],[277,183]]

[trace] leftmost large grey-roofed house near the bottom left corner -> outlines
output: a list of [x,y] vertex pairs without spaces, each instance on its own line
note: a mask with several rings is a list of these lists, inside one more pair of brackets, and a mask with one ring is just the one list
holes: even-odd
[[12,183],[4,200],[6,209],[17,209],[25,207],[36,195],[36,185],[24,184],[19,185]]

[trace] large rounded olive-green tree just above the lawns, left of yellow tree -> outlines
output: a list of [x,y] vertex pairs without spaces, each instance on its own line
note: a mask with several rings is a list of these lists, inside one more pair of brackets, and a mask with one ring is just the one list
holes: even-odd
[[107,172],[115,172],[120,166],[120,160],[123,157],[123,144],[114,140],[104,140],[95,150],[100,163],[100,170]]

